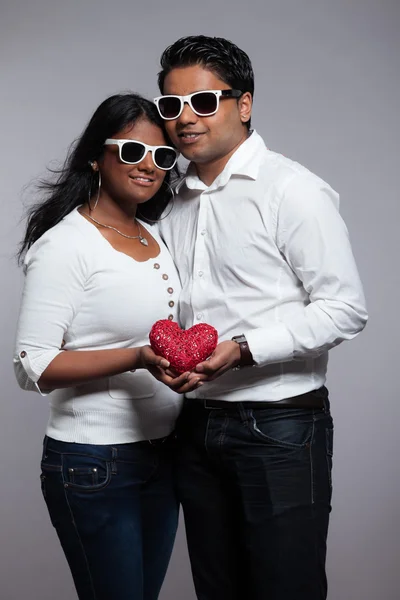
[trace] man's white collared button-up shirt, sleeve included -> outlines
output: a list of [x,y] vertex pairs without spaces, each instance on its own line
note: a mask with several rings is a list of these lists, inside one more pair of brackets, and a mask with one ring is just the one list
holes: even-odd
[[244,334],[256,367],[193,396],[279,400],[325,382],[328,350],[367,321],[337,193],[254,131],[207,187],[189,166],[160,232],[178,268],[184,328]]

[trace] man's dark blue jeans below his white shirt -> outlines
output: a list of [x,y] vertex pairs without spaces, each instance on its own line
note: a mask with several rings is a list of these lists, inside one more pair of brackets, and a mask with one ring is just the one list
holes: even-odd
[[199,600],[325,600],[333,424],[325,409],[186,399],[177,483]]

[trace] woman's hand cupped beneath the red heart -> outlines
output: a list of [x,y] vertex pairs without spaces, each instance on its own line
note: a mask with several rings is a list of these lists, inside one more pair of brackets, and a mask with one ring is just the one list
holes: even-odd
[[[196,373],[175,374],[169,369],[169,362],[157,356],[150,346],[143,346],[140,350],[141,364],[147,369],[157,381],[161,381],[177,394],[186,394],[197,387],[197,384],[204,376]],[[189,380],[189,376],[192,376]]]

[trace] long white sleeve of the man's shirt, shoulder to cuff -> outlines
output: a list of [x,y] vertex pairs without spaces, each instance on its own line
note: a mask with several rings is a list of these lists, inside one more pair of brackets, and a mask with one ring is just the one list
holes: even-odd
[[301,312],[245,332],[258,366],[312,358],[355,337],[367,322],[364,293],[337,194],[298,175],[277,212],[278,248],[308,295]]

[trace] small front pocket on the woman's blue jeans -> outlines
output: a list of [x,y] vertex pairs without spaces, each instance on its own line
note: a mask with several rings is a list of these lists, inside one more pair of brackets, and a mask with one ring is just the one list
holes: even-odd
[[90,455],[64,454],[64,487],[82,492],[96,492],[111,481],[111,464]]

